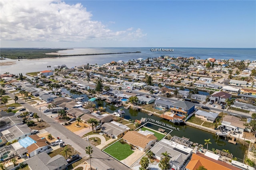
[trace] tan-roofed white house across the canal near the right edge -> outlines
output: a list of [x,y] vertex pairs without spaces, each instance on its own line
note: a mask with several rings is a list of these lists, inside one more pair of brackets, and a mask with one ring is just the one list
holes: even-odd
[[221,126],[226,130],[232,130],[234,132],[244,132],[245,130],[244,122],[240,118],[231,115],[223,118]]

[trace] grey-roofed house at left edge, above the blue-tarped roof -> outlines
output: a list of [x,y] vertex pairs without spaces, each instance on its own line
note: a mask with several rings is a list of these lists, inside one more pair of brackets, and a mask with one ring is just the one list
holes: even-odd
[[1,132],[8,142],[12,142],[13,140],[19,140],[29,136],[32,133],[32,130],[28,127],[28,125],[15,125]]

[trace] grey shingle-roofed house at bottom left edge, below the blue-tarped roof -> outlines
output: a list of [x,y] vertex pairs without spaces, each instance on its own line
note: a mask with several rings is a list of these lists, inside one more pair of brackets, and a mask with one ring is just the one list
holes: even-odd
[[68,162],[62,155],[50,157],[43,152],[26,160],[30,170],[64,170],[67,168]]

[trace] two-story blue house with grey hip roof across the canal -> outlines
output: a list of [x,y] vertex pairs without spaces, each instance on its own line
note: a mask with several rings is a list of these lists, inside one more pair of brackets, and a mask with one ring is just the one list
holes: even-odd
[[181,115],[190,115],[194,112],[195,105],[196,104],[189,101],[178,101],[170,105],[170,109],[174,113],[179,113]]

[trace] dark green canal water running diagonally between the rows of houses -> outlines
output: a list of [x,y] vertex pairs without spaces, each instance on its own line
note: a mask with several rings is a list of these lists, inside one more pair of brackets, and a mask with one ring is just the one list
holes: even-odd
[[[77,98],[77,97],[84,97],[83,100],[87,101],[89,98],[86,94],[72,94],[68,90],[62,89],[64,93],[70,94],[73,97],[72,98]],[[96,101],[96,107],[106,107],[106,111],[109,113],[117,112],[119,109],[124,109],[124,107],[115,107],[113,104],[106,103],[105,101]],[[154,122],[154,124],[161,125],[162,127],[166,127],[165,130],[166,132],[170,132],[170,127],[173,129],[170,135],[172,136],[179,136],[179,137],[186,137],[189,138],[190,141],[198,144],[203,144],[204,145],[204,139],[209,139],[212,144],[208,144],[208,150],[212,150],[212,148],[218,149],[218,150],[229,150],[230,153],[234,155],[234,157],[237,157],[238,160],[243,160],[244,159],[244,154],[246,150],[248,149],[246,146],[243,146],[242,144],[230,144],[228,143],[228,140],[224,140],[223,138],[219,137],[217,140],[217,136],[215,134],[199,130],[197,128],[193,128],[187,125],[174,125],[173,123],[163,120],[160,117],[156,117],[154,115],[148,116],[148,113],[142,113],[140,111],[135,111],[133,109],[124,109],[125,114],[123,117],[127,120],[140,120],[142,117],[147,118],[149,120],[148,122]],[[159,123],[158,123],[159,121]],[[166,126],[167,125],[167,126]],[[157,130],[159,127],[156,125],[153,125],[151,123],[147,123],[147,127],[153,128]],[[179,130],[178,130],[179,129]],[[206,148],[206,146],[204,146]]]

